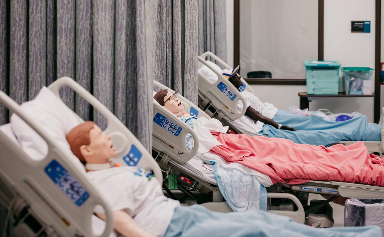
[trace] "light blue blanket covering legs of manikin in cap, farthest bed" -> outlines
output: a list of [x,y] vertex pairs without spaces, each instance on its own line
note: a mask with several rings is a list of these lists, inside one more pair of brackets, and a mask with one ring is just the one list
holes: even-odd
[[368,123],[366,116],[331,122],[316,116],[278,110],[272,120],[300,130],[292,132],[264,125],[260,133],[268,137],[287,138],[295,143],[329,146],[339,141],[381,141],[381,125]]

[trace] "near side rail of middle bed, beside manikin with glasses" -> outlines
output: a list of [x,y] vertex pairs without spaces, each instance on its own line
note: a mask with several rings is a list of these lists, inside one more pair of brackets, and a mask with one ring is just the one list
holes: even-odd
[[[199,138],[192,128],[176,115],[153,99],[153,140],[152,146],[157,151],[169,155],[178,163],[185,163],[196,155],[199,149]],[[186,136],[190,133],[194,147],[188,150]]]

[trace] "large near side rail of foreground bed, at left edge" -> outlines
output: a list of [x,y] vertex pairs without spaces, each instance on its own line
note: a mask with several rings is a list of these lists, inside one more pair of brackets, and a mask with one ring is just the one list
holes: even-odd
[[[43,160],[32,160],[5,133],[0,131],[0,174],[24,199],[38,219],[61,236],[109,236],[113,212],[92,183],[70,162],[70,151],[62,149],[20,106],[0,91],[0,102],[26,122],[48,145]],[[15,202],[11,202],[11,207]],[[93,233],[91,217],[95,205],[104,207],[106,227],[101,235]]]

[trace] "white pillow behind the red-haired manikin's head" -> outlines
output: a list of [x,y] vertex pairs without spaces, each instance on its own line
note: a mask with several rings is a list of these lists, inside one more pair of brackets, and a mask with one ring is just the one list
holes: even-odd
[[[62,148],[71,151],[65,137],[80,122],[72,110],[50,89],[43,87],[35,99],[24,102],[20,107],[31,119],[43,127]],[[11,116],[11,125],[13,133],[15,133],[22,149],[31,159],[42,160],[45,158],[48,153],[48,146],[35,130],[29,127],[16,114]],[[69,159],[73,161],[74,165],[84,170],[84,166],[78,158],[72,152],[70,153],[72,156]]]

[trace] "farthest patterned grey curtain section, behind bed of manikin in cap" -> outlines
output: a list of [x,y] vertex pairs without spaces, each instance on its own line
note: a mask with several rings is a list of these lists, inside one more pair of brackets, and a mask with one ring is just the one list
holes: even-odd
[[211,51],[227,61],[226,1],[198,0],[199,55]]

